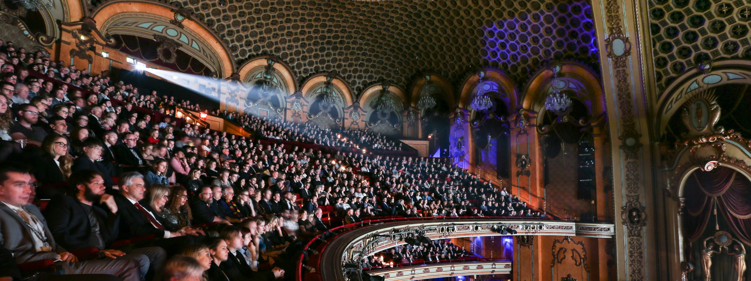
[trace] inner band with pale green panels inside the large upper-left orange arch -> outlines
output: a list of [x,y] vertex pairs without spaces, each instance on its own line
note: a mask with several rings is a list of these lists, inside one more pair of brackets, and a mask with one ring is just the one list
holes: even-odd
[[164,36],[180,44],[179,49],[192,55],[213,71],[221,69],[219,55],[189,29],[170,23],[163,16],[143,13],[119,13],[104,22],[101,30],[108,34],[130,34],[146,38]]

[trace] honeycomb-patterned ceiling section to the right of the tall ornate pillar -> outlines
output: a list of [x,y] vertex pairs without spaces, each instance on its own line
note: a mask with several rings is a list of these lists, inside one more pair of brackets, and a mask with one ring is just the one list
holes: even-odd
[[659,94],[701,61],[751,58],[751,2],[650,0],[650,31]]

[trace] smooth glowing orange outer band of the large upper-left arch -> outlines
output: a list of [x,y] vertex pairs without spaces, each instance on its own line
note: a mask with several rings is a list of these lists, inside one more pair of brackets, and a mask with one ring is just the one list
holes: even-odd
[[[125,15],[122,15],[122,14]],[[174,19],[176,11],[173,7],[166,6],[158,2],[144,1],[111,1],[102,5],[94,11],[92,18],[96,21],[97,28],[107,32],[109,23],[117,17],[149,15],[156,18]],[[213,31],[206,28],[201,22],[196,22],[190,17],[182,20],[182,30],[194,34],[195,37],[204,41],[204,44],[213,52],[214,56],[219,59],[217,72],[219,76],[226,76],[234,72],[234,60],[231,58],[228,49],[225,48],[222,40],[219,39]]]

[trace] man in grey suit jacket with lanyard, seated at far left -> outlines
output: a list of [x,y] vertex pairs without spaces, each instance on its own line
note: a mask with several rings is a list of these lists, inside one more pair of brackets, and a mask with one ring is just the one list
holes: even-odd
[[140,264],[133,259],[78,262],[55,244],[39,208],[27,202],[32,176],[20,163],[0,163],[0,246],[14,254],[16,262],[52,259],[65,274],[112,274],[123,281],[140,281]]

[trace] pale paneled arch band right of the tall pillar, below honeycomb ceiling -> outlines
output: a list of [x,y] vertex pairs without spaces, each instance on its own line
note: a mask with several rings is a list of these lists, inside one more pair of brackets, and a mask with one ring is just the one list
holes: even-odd
[[[701,65],[701,64],[700,64]],[[749,59],[728,59],[722,61],[713,61],[710,68],[701,70],[700,67],[694,67],[686,71],[683,75],[678,76],[668,88],[662,92],[659,101],[656,118],[659,126],[655,128],[655,133],[662,135],[670,119],[681,108],[681,105],[689,100],[693,94],[700,92],[704,88],[713,88],[719,85],[727,84],[749,84],[751,85],[751,60]]]

